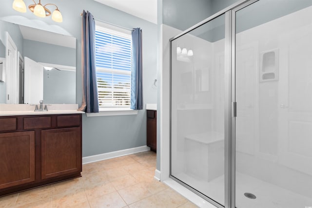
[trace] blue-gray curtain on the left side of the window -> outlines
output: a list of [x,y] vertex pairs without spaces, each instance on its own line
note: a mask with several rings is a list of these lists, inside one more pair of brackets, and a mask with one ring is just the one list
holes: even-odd
[[82,104],[80,111],[98,113],[98,83],[96,72],[96,24],[92,14],[82,13]]

